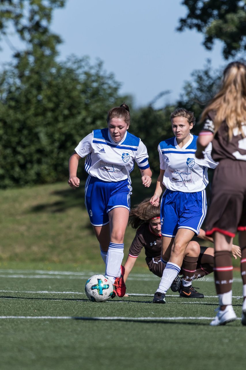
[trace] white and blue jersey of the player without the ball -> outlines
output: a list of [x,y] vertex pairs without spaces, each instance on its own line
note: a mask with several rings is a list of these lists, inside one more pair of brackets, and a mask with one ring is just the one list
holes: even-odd
[[163,185],[172,191],[193,193],[202,191],[208,185],[208,167],[215,168],[217,163],[211,157],[212,145],[204,151],[204,159],[197,159],[196,135],[180,148],[176,137],[160,142],[158,146],[160,169],[164,169]]

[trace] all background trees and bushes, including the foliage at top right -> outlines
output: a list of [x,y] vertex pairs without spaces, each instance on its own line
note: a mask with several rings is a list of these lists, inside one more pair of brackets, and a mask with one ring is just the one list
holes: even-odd
[[[184,84],[179,101],[159,110],[153,108],[153,103],[134,109],[132,97],[119,94],[120,84],[113,74],[104,70],[102,61],[92,65],[87,57],[73,56],[58,63],[57,46],[61,40],[51,32],[49,26],[53,10],[63,7],[65,2],[3,0],[0,3],[0,41],[7,35],[11,24],[24,45],[22,51],[14,52],[13,61],[0,72],[1,188],[65,180],[71,148],[92,129],[105,127],[107,111],[123,101],[131,108],[131,132],[140,136],[146,144],[152,169],[158,173],[157,145],[161,137],[172,134],[170,112],[182,106],[193,110],[198,118],[202,110],[201,103],[214,95],[218,86],[220,71],[212,71],[208,61],[203,70],[194,71],[191,81]],[[209,26],[202,20],[207,8],[202,9],[201,3],[215,8],[218,1],[183,3],[189,13],[187,19],[180,20],[179,30],[197,28],[207,37],[205,46],[212,47],[212,41],[218,38],[218,25],[215,24],[213,28],[216,29],[213,36],[211,19],[210,23],[207,20]],[[196,8],[198,3],[199,17]],[[224,14],[226,19],[230,19],[228,14],[231,11],[242,21],[241,10],[243,3],[246,10],[245,1],[221,3],[228,5],[224,13],[219,13],[221,18]],[[238,8],[235,8],[235,4]],[[209,14],[218,15],[216,9],[213,11]],[[203,28],[198,27],[199,22],[203,22]],[[235,43],[233,45],[231,48],[227,46],[225,56],[234,55],[245,48],[245,35],[238,49]],[[195,126],[194,132],[198,130]]]

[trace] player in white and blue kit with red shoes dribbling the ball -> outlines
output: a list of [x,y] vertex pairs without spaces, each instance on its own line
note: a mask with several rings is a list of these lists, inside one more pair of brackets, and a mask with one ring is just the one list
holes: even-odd
[[136,162],[143,185],[149,187],[152,172],[145,145],[127,131],[130,125],[128,106],[122,104],[112,108],[107,123],[107,128],[93,130],[75,148],[69,159],[68,184],[74,189],[79,186],[77,167],[79,160],[86,157],[85,169],[89,174],[85,186],[86,209],[100,243],[105,275],[114,284],[117,295],[123,297],[126,287],[121,262],[132,194],[130,173]]

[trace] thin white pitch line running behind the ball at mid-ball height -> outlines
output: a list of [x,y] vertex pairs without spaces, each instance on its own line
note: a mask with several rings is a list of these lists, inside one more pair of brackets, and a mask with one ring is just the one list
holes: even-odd
[[[49,290],[2,290],[0,289],[0,293],[33,293],[33,294],[77,294],[77,295],[85,295],[83,292],[52,292]],[[153,294],[141,294],[141,293],[127,293],[131,297],[153,297]],[[166,297],[174,297],[174,298],[180,298],[179,295],[166,295]],[[204,296],[205,298],[218,298],[218,296]],[[14,298],[14,297],[13,297]],[[125,297],[127,298],[127,297]],[[232,296],[232,298],[243,298],[243,296]],[[188,298],[187,298],[188,299]],[[117,301],[118,302],[118,301]],[[121,302],[124,302],[122,300]],[[191,301],[191,302],[183,302],[183,303],[208,303],[204,302],[204,300],[199,300],[197,302]]]

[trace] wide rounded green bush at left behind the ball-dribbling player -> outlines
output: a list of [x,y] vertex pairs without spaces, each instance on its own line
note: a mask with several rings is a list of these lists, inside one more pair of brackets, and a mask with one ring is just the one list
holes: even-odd
[[73,148],[92,129],[105,127],[119,101],[117,83],[99,61],[75,57],[33,73],[25,67],[0,75],[0,186],[47,183],[67,177]]

